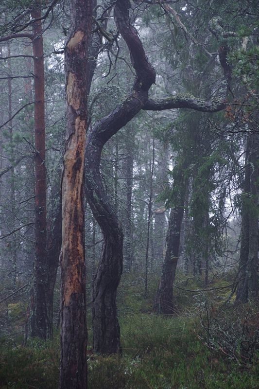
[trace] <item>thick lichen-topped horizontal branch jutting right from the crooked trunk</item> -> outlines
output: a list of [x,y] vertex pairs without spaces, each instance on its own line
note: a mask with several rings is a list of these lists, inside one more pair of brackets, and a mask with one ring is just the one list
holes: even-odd
[[165,109],[174,108],[190,108],[201,112],[217,112],[221,111],[227,104],[219,101],[205,101],[198,99],[191,94],[178,94],[165,99],[152,100],[149,99],[142,107],[147,111],[162,111]]

